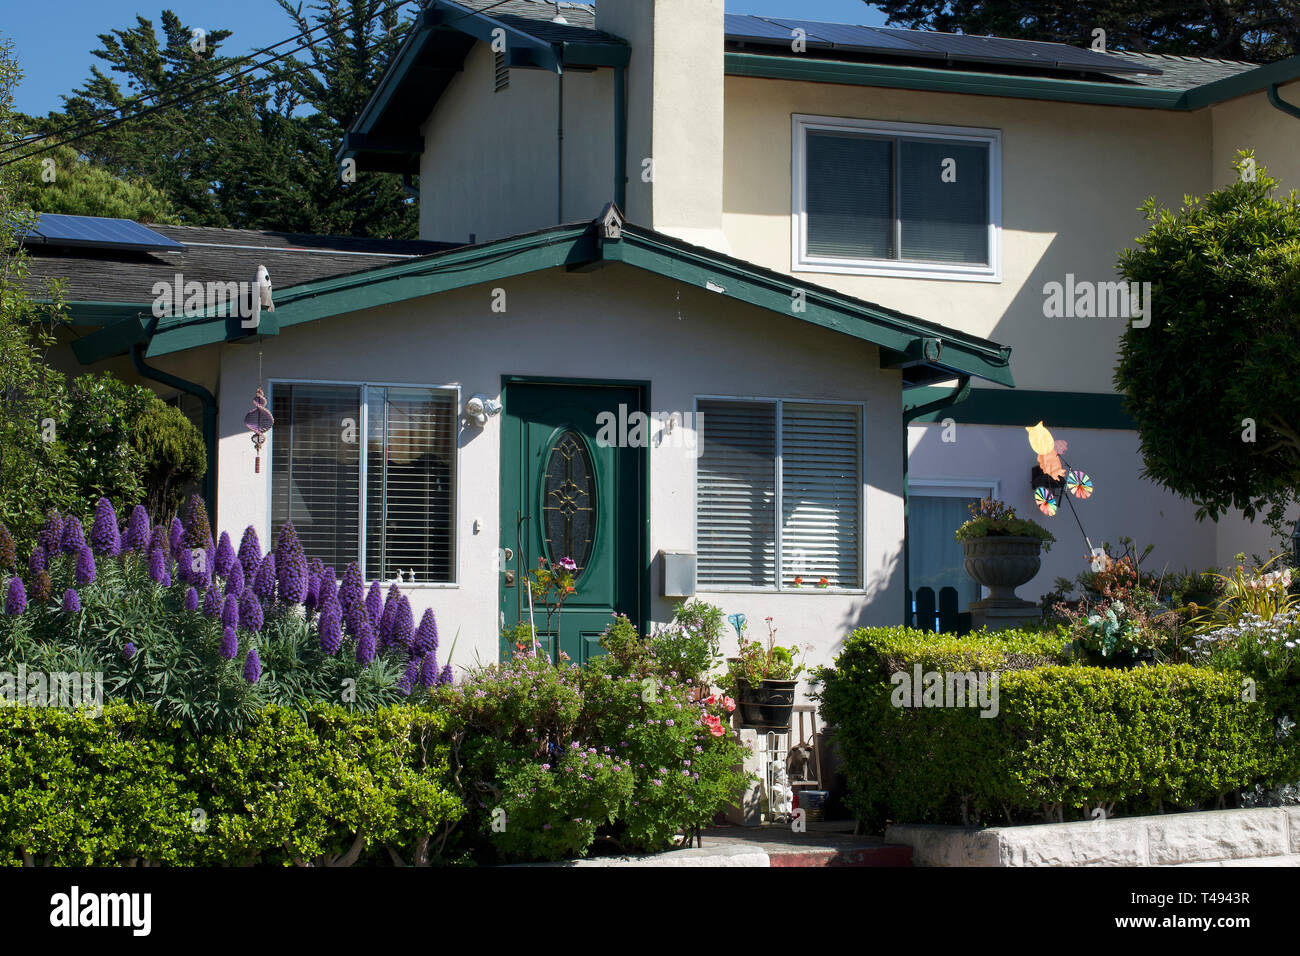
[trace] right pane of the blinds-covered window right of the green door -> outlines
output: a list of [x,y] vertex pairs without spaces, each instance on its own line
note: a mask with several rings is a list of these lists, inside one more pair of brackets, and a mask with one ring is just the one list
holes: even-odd
[[854,407],[781,405],[783,585],[861,587],[861,432]]

